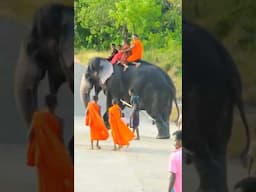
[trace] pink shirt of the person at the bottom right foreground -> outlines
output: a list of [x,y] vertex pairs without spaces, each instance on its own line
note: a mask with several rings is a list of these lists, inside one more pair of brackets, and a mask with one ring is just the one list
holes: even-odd
[[182,192],[182,148],[171,153],[168,171],[175,173],[174,192]]

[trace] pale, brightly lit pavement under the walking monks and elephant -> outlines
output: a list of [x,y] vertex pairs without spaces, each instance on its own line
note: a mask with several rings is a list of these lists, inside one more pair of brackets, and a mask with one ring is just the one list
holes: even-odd
[[[171,140],[157,140],[156,128],[142,117],[141,140],[129,148],[112,151],[111,137],[101,150],[91,150],[89,128],[75,117],[76,192],[162,192],[168,188]],[[175,130],[172,126],[171,130]]]

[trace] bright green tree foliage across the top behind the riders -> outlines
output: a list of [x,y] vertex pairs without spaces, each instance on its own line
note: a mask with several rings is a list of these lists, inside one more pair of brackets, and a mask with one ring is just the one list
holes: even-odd
[[75,13],[76,49],[107,49],[121,43],[124,29],[148,48],[181,43],[181,0],[75,0]]

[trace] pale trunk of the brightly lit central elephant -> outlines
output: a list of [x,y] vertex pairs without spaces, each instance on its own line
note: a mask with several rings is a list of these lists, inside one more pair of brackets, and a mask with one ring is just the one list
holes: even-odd
[[80,82],[80,100],[85,108],[87,107],[87,104],[90,101],[91,89],[92,84],[85,78],[85,75],[83,75]]

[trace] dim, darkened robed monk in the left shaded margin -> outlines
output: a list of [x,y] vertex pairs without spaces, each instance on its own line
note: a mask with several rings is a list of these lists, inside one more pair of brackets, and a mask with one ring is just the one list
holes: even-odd
[[56,97],[47,96],[46,104],[48,109],[33,114],[27,165],[37,168],[39,192],[73,192],[74,168],[54,113]]

